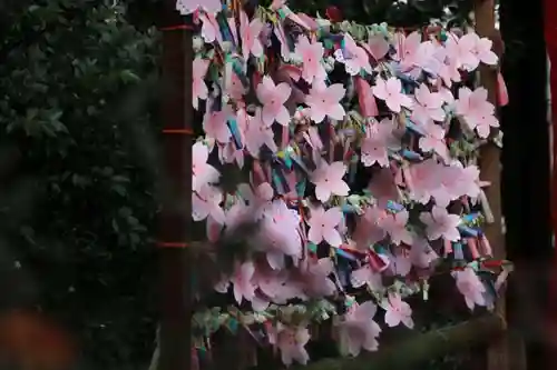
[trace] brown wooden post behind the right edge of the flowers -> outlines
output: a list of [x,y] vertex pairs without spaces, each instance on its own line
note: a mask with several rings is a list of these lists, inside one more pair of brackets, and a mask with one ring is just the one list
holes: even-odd
[[[476,20],[476,32],[480,37],[486,37],[494,40],[496,34],[498,34],[495,29],[494,0],[475,0],[473,11]],[[500,43],[500,37],[495,41]],[[480,83],[488,90],[489,101],[497,107],[497,70],[481,64]],[[486,224],[483,232],[491,243],[494,257],[497,259],[505,259],[507,253],[505,250],[505,239],[502,234],[501,223],[502,212],[500,149],[492,141],[483,144],[480,148],[479,162],[480,179],[482,181],[489,181],[491,183],[486,190],[486,197],[491,207],[495,219],[495,222]],[[507,310],[504,291],[501,291],[501,294],[496,302],[495,310],[497,316],[506,320]],[[487,369],[508,370],[511,366],[509,360],[508,336],[501,336],[497,340],[492,341],[488,347]]]

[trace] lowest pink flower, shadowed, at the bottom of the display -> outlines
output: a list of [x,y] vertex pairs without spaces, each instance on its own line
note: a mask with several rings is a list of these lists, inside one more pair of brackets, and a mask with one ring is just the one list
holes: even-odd
[[307,363],[310,356],[305,344],[310,341],[310,331],[306,328],[278,324],[273,331],[274,333],[268,333],[268,341],[278,348],[285,366],[291,366],[294,360],[302,364]]

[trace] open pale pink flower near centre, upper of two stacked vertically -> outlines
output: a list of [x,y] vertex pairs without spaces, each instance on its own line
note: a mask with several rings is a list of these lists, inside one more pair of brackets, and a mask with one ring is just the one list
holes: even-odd
[[311,181],[315,184],[315,197],[317,197],[317,200],[325,202],[331,196],[348,196],[350,188],[342,180],[344,173],[346,173],[346,166],[343,162],[329,164],[322,161],[321,166],[311,177]]

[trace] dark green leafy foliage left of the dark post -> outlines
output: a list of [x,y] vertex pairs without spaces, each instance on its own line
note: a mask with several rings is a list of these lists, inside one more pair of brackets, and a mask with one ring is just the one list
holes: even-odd
[[89,364],[135,368],[155,332],[157,131],[137,86],[156,39],[101,1],[2,7],[2,308],[59,317]]

